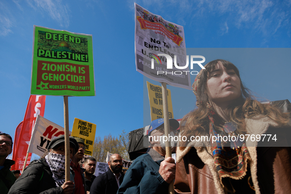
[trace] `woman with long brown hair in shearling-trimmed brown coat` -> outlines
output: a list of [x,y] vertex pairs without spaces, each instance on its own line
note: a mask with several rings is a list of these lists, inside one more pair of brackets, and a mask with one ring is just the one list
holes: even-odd
[[206,64],[192,88],[198,108],[180,124],[176,192],[290,192],[289,114],[255,100],[225,60]]

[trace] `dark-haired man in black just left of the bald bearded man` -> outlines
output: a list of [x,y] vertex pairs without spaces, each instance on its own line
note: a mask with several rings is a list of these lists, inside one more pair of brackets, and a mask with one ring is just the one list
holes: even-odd
[[83,164],[83,168],[85,169],[85,183],[87,193],[90,192],[91,185],[96,178],[94,174],[96,169],[96,160],[93,157],[86,158]]

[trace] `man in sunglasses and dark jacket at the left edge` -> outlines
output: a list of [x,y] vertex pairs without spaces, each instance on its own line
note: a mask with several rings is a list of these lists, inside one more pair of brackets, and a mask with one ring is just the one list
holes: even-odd
[[16,181],[14,174],[10,171],[11,165],[15,162],[6,159],[12,153],[12,138],[9,134],[0,133],[0,191],[7,194]]

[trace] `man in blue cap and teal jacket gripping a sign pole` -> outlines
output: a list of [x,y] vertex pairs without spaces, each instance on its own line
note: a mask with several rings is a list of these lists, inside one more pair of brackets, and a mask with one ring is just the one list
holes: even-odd
[[[179,122],[169,120],[170,135],[177,135]],[[163,142],[163,119],[154,120],[149,128],[151,144],[146,154],[139,156],[130,165],[118,194],[168,194],[169,183],[175,179],[176,164],[171,157],[165,157]],[[174,145],[172,145],[174,148]]]

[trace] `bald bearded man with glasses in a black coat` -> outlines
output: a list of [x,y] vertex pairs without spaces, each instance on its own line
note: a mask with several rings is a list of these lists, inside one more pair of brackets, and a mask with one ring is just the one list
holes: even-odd
[[97,176],[91,186],[90,194],[116,194],[123,181],[123,161],[119,154],[113,154],[108,161],[108,170]]

